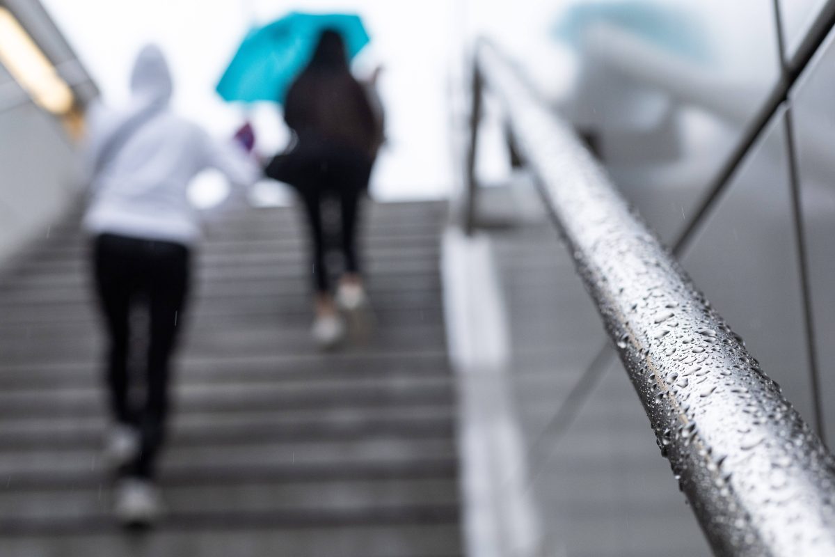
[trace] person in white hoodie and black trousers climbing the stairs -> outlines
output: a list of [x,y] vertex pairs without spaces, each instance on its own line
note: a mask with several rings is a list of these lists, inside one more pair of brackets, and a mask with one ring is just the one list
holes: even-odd
[[[171,76],[163,53],[141,49],[128,106],[89,109],[83,166],[90,187],[83,227],[93,245],[94,284],[109,346],[105,380],[113,424],[105,457],[119,471],[114,511],[125,524],[149,524],[161,510],[154,467],[168,412],[169,365],[183,326],[190,255],[200,238],[186,189],[214,167],[233,183],[260,175],[243,142],[222,144],[169,108]],[[240,139],[236,136],[235,139]],[[149,315],[144,397],[129,397],[130,312]]]

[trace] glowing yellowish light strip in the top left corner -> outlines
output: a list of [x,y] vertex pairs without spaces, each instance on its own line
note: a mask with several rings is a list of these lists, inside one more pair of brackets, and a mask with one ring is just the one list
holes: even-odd
[[73,90],[7,8],[0,8],[0,63],[43,109],[66,114],[73,108]]

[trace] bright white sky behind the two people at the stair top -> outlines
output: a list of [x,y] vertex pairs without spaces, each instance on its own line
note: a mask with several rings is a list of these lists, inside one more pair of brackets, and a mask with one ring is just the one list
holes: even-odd
[[[251,24],[263,24],[292,9],[357,12],[372,45],[357,60],[357,73],[377,63],[385,71],[380,92],[387,109],[389,144],[377,161],[372,194],[380,199],[446,195],[453,181],[448,140],[448,68],[455,3],[386,0],[43,0],[58,27],[93,75],[105,99],[128,97],[134,54],[151,40],[164,49],[175,73],[175,109],[218,135],[231,134],[245,114],[256,124],[259,149],[283,148],[286,130],[271,106],[245,111],[225,104],[215,84]],[[458,30],[460,32],[460,30]]]

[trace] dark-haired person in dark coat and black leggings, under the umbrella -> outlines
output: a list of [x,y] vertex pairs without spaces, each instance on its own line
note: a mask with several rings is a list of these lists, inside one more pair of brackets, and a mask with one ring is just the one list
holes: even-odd
[[[354,310],[366,303],[357,254],[357,221],[362,195],[382,143],[382,119],[375,115],[365,89],[351,74],[342,37],[321,33],[306,68],[291,84],[284,119],[295,134],[292,149],[274,157],[267,176],[296,189],[311,235],[311,281],[315,291],[313,337],[323,347],[342,338],[337,306]],[[339,248],[344,272],[336,298],[326,269],[322,200],[340,206]]]

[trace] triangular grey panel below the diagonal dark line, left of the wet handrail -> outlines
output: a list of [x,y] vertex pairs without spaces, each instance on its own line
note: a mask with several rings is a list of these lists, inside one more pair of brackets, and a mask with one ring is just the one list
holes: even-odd
[[706,557],[696,517],[660,455],[635,389],[612,362],[534,483],[569,557]]

